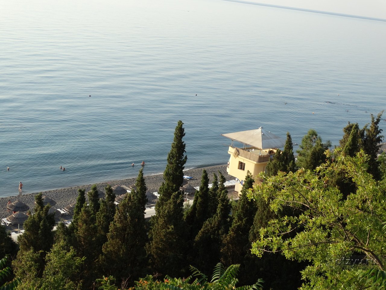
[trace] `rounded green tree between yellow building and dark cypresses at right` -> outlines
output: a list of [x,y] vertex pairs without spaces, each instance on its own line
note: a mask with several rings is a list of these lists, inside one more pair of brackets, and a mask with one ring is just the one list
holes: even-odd
[[300,150],[298,152],[298,167],[314,170],[320,164],[325,162],[325,150],[331,147],[331,142],[322,143],[322,138],[318,133],[310,129],[301,140]]

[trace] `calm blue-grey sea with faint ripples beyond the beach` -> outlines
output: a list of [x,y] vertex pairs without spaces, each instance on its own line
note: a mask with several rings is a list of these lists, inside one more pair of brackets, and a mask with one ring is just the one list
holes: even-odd
[[221,133],[337,144],[386,108],[385,22],[221,0],[0,5],[0,196],[142,160],[162,172],[179,119],[190,168],[227,162]]

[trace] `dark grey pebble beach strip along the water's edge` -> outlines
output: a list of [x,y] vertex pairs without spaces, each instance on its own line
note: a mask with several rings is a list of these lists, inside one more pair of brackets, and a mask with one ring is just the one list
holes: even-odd
[[[184,171],[185,175],[192,176],[193,178],[189,181],[189,183],[193,186],[200,186],[201,183],[201,174],[202,170],[205,169],[209,176],[209,183],[212,183],[213,180],[213,173],[216,173],[218,175],[218,171],[220,171],[223,176],[225,177],[225,180],[231,180],[234,179],[234,177],[230,176],[227,173],[227,165],[217,165],[217,166],[210,166],[210,167],[204,167],[204,168],[195,168],[195,169],[189,169]],[[97,183],[97,188],[105,191],[104,188],[108,185],[115,186],[115,185],[124,185],[124,186],[130,186],[135,183],[136,178],[129,178],[124,180],[114,180],[114,181],[106,181],[102,183]],[[158,191],[159,186],[163,182],[163,175],[157,174],[157,175],[149,175],[145,176],[146,186],[147,189],[149,189],[151,192]],[[69,205],[70,203],[73,203],[76,201],[76,198],[78,196],[78,189],[85,189],[86,192],[91,189],[92,184],[87,184],[83,186],[76,186],[76,187],[70,187],[70,188],[62,188],[62,189],[56,189],[56,190],[50,190],[50,191],[44,191],[43,196],[48,196],[52,198],[52,200],[56,201],[56,205],[54,205],[54,208],[64,208],[64,206]],[[30,193],[30,194],[19,194],[17,196],[10,196],[7,198],[0,198],[0,218],[4,218],[9,216],[11,213],[7,212],[7,202],[8,200],[14,202],[16,200],[20,200],[24,202],[25,204],[29,205],[31,209],[34,208],[34,196],[36,193]],[[16,225],[17,228],[17,225]],[[9,229],[14,229],[14,227],[11,225]]]

